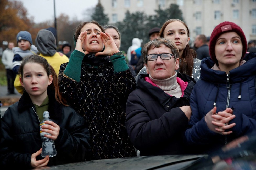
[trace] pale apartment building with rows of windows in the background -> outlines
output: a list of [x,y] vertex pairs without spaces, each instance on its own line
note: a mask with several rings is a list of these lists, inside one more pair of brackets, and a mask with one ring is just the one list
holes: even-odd
[[210,36],[213,28],[223,21],[239,25],[247,41],[256,40],[256,0],[104,0],[101,3],[110,23],[122,21],[127,10],[154,15],[159,5],[165,9],[176,3],[190,29],[192,41],[198,34]]

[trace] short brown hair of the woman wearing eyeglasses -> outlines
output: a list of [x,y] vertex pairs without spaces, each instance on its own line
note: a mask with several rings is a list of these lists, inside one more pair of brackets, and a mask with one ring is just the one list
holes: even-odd
[[157,39],[151,40],[143,46],[142,56],[144,58],[144,63],[147,63],[148,50],[150,50],[152,47],[159,48],[162,44],[171,49],[171,52],[175,58],[180,57],[179,49],[174,44],[174,42],[166,38],[158,37]]

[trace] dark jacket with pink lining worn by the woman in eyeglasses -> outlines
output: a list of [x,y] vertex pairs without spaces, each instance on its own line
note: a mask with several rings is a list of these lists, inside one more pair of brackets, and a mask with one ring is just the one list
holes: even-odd
[[181,89],[185,90],[176,98],[148,83],[145,77],[148,74],[138,76],[139,88],[127,100],[125,125],[131,142],[141,151],[140,156],[188,153],[182,144],[188,118],[179,107],[189,105],[195,80],[178,73],[185,82]]

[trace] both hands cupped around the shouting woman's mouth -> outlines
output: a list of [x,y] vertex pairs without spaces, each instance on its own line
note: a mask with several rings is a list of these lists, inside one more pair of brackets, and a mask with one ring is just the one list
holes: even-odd
[[[87,36],[87,31],[83,31],[80,33],[80,35],[76,41],[76,48],[75,48],[76,50],[83,52],[85,55],[89,54],[88,51],[84,51],[82,48],[82,44],[84,43],[86,36]],[[99,35],[95,35],[95,36],[99,36]],[[104,49],[104,51],[97,52],[95,54],[95,56],[99,56],[99,55],[111,56],[111,54],[119,51],[113,38],[111,37],[111,35],[109,33],[100,32],[100,36],[101,36],[101,39],[105,46],[105,49]]]

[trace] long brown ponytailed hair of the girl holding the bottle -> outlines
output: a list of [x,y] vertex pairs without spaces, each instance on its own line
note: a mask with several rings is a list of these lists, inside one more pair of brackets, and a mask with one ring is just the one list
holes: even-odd
[[51,89],[55,92],[55,99],[57,102],[59,102],[60,104],[63,104],[65,106],[66,105],[66,100],[62,98],[61,94],[59,93],[59,85],[58,85],[58,77],[57,74],[55,72],[55,70],[53,69],[53,67],[47,62],[47,60],[41,56],[38,55],[31,55],[29,57],[26,57],[25,59],[23,59],[20,68],[19,68],[19,74],[21,74],[21,80],[22,80],[22,76],[23,76],[23,68],[24,65],[26,63],[37,63],[40,64],[41,66],[43,66],[43,68],[45,69],[47,76],[49,77],[50,75],[52,75],[52,83],[47,87],[47,89]]

